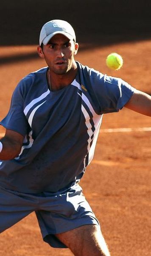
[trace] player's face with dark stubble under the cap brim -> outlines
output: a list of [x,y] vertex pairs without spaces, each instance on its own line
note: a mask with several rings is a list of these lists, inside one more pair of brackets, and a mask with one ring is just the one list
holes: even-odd
[[50,73],[53,72],[59,75],[67,73],[74,67],[74,55],[77,51],[78,44],[61,34],[54,35],[42,49]]

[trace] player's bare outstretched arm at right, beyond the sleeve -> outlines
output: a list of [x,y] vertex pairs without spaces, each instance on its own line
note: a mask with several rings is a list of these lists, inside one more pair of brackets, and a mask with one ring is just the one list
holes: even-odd
[[151,116],[151,96],[136,90],[124,107],[143,115]]

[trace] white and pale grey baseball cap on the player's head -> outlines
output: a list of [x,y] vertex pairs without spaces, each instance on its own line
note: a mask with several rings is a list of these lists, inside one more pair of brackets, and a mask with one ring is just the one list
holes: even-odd
[[73,27],[64,20],[50,20],[44,24],[39,37],[39,45],[48,44],[49,40],[56,34],[65,35],[76,42],[76,35]]

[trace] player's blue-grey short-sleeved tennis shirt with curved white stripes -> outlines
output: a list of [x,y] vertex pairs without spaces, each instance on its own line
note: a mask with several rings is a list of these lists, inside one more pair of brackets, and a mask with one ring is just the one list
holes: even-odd
[[135,89],[122,79],[77,65],[76,78],[61,90],[48,89],[48,67],[17,85],[0,124],[22,134],[24,142],[16,158],[0,162],[0,186],[26,193],[58,192],[83,176],[103,113],[119,111]]

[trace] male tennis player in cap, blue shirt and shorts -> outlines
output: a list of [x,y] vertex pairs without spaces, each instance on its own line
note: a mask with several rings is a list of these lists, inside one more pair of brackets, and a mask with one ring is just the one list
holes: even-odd
[[109,256],[78,185],[93,158],[103,113],[151,116],[151,96],[76,62],[72,26],[51,20],[38,54],[47,67],[23,78],[0,122],[0,231],[35,211],[43,240],[76,256]]

